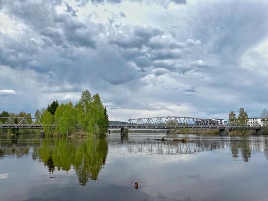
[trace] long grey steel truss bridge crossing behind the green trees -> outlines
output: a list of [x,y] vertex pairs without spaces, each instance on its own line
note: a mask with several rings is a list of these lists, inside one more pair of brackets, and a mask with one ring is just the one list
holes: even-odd
[[[0,117],[0,129],[43,129],[37,118]],[[55,125],[52,125],[55,127]],[[76,128],[80,128],[76,125]],[[170,129],[242,129],[258,130],[263,127],[257,124],[241,124],[238,122],[225,124],[217,119],[200,119],[192,117],[153,117],[129,119],[126,123],[111,124],[109,129],[133,130],[170,130]]]

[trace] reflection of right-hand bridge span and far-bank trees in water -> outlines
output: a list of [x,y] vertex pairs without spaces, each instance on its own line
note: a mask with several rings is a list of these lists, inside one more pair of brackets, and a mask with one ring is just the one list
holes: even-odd
[[230,150],[234,159],[242,157],[248,162],[253,153],[264,152],[268,159],[268,138],[256,136],[189,138],[189,141],[161,141],[154,139],[129,139],[126,141],[109,140],[110,148],[127,149],[129,153],[161,155],[198,154],[201,152]]

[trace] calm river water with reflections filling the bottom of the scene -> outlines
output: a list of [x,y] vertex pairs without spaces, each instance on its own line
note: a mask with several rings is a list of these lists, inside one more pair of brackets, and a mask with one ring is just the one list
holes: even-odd
[[268,137],[161,136],[0,135],[0,201],[268,200]]

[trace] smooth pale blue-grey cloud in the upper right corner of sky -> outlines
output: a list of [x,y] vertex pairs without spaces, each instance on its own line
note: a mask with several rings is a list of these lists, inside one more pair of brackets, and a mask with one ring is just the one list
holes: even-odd
[[[198,3],[193,14],[191,32],[206,43],[207,51],[220,57],[224,63],[235,64],[244,52],[267,36],[267,7],[257,1],[231,0],[215,2],[207,7]],[[222,10],[226,15],[222,15]],[[206,15],[203,13],[206,12]],[[245,34],[247,33],[247,34]]]

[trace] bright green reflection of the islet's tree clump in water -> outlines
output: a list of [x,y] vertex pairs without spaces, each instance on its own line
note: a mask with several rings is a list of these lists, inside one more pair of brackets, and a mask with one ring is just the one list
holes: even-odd
[[74,169],[78,181],[85,185],[88,180],[97,180],[101,168],[105,164],[108,152],[106,139],[52,139],[43,140],[40,148],[34,150],[35,160],[39,160],[48,167],[49,172],[57,170],[68,171]]

